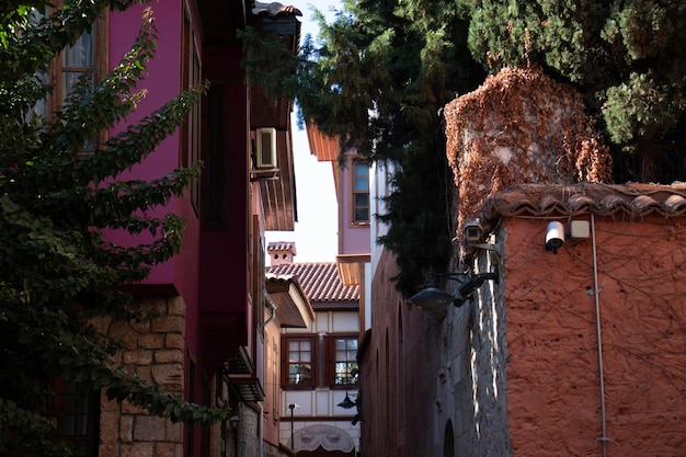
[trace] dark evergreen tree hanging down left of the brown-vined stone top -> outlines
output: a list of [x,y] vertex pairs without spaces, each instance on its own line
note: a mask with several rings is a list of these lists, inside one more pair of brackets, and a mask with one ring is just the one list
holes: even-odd
[[454,228],[453,176],[442,107],[483,80],[467,52],[467,23],[451,1],[344,1],[319,41],[306,39],[301,115],[370,161],[393,164],[389,224],[399,290],[412,295],[431,265],[444,271]]

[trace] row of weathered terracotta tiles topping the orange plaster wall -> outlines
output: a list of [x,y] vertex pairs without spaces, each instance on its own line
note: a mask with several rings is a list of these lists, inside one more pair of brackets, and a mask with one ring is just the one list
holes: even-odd
[[665,217],[686,214],[686,183],[575,185],[524,184],[493,195],[484,204],[483,220],[499,216],[571,216],[591,212],[601,216],[625,213],[641,217],[656,213]]

